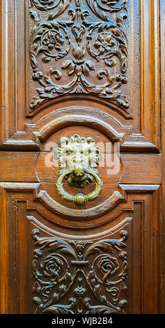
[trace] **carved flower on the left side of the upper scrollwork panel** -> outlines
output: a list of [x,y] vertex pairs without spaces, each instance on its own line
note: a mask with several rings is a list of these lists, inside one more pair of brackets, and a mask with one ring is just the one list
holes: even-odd
[[49,31],[47,36],[43,39],[43,44],[47,45],[49,50],[55,47],[56,50],[60,51],[63,42],[63,35],[56,31]]

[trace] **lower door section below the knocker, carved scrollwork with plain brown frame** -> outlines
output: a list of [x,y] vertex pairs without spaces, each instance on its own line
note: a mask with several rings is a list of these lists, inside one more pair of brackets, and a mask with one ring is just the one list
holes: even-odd
[[8,236],[8,251],[15,250],[15,257],[4,257],[1,274],[5,265],[17,277],[17,284],[10,285],[3,276],[10,290],[6,311],[157,312],[159,186],[122,186],[127,198],[116,205],[102,232],[100,225],[80,230],[79,221],[72,229],[65,227],[64,218],[47,221],[48,211],[49,217],[54,214],[36,202],[36,188],[1,183],[8,202],[1,228],[4,238]]

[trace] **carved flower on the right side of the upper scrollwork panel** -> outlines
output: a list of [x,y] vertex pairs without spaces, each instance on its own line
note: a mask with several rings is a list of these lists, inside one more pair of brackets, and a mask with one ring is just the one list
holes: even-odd
[[104,54],[104,52],[111,51],[111,47],[115,45],[111,38],[111,33],[100,33],[97,36],[97,41],[95,42],[94,47],[98,50],[98,54]]

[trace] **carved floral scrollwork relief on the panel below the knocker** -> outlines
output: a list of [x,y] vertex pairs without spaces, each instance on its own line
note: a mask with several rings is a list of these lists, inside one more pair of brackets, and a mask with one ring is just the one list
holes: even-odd
[[33,230],[35,313],[125,313],[127,231],[97,242],[38,234]]

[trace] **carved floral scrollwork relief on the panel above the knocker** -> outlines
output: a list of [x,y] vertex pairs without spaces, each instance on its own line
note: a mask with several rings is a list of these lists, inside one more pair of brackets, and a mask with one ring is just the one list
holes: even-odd
[[[57,21],[56,17],[72,3],[74,6],[67,13],[68,21]],[[33,7],[38,10],[56,7],[57,11],[52,10],[42,20],[40,12],[33,11]],[[122,13],[116,15],[115,19],[109,16],[120,10]],[[90,11],[97,17],[95,22],[88,18]],[[59,1],[31,0],[31,67],[33,80],[40,84],[36,96],[33,96],[31,110],[58,96],[93,94],[107,98],[129,111],[127,97],[120,90],[127,83],[126,12],[126,0],[63,0],[60,4]],[[66,57],[65,60],[63,57]],[[49,69],[43,70],[40,61],[47,64],[52,59],[60,63],[52,62]],[[97,62],[100,63],[100,69],[97,68]],[[68,82],[60,84],[58,81],[63,78],[64,70],[68,74]],[[101,80],[104,82],[101,83]]]

